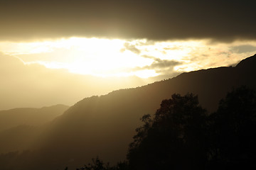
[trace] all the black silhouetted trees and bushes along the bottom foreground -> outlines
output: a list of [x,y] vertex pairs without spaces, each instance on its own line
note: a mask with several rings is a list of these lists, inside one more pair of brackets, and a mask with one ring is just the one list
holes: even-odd
[[110,166],[97,157],[79,170],[256,169],[256,94],[245,86],[210,115],[198,96],[174,94],[141,120],[128,162]]

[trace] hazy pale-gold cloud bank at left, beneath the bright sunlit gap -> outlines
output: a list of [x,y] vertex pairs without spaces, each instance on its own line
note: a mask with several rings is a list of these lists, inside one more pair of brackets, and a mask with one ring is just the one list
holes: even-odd
[[23,64],[1,52],[0,61],[0,110],[58,103],[71,106],[85,97],[146,84],[138,77],[104,79],[71,74],[65,69],[47,69],[40,64]]

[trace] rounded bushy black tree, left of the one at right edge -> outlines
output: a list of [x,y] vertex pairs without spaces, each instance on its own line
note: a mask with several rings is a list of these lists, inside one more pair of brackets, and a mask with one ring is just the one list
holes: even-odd
[[154,114],[142,117],[129,145],[131,169],[203,169],[206,162],[206,110],[198,96],[172,95]]

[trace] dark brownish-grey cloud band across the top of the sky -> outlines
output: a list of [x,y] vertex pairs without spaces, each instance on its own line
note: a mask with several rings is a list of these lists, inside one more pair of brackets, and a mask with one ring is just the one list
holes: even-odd
[[256,39],[255,1],[1,0],[0,39]]

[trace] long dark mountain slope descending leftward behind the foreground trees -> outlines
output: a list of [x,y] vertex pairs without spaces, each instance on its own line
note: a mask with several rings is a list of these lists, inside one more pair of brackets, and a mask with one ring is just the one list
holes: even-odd
[[154,114],[163,99],[174,93],[197,94],[201,106],[212,113],[233,88],[245,85],[256,90],[255,66],[256,55],[235,67],[183,73],[146,86],[85,98],[40,131],[43,135],[35,152],[36,169],[75,169],[96,156],[112,163],[125,159],[129,142],[140,125],[139,118],[146,113]]

